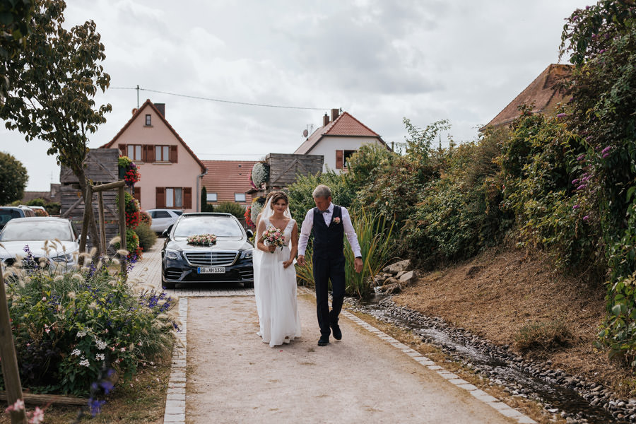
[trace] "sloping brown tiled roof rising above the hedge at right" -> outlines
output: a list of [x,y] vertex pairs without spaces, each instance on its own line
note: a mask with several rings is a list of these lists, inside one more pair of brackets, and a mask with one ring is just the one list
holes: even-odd
[[502,126],[510,124],[519,116],[519,105],[531,105],[532,112],[552,112],[559,103],[565,103],[570,97],[563,92],[559,84],[567,81],[572,75],[574,66],[563,64],[550,64],[536,77],[504,110],[499,112],[492,121],[479,129],[483,131],[488,126]]

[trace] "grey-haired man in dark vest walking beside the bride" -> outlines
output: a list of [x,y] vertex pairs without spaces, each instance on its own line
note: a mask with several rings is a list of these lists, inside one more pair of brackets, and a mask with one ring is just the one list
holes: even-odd
[[[310,232],[314,232],[314,283],[316,285],[316,312],[320,326],[318,346],[329,344],[329,335],[340,340],[342,331],[338,326],[338,315],[345,294],[345,257],[343,236],[347,236],[355,255],[355,272],[363,269],[360,244],[355,235],[351,217],[346,208],[331,203],[331,190],[325,185],[314,189],[315,208],[307,211],[300,228],[298,240],[298,264],[305,266],[305,249]],[[329,280],[331,280],[331,312],[329,311]]]

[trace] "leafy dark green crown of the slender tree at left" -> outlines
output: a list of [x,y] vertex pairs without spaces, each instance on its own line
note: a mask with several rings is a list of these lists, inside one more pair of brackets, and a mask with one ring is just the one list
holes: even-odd
[[[47,153],[71,169],[86,196],[83,161],[88,135],[106,122],[105,114],[112,109],[98,107],[93,98],[98,90],[108,88],[110,76],[99,64],[106,56],[95,22],[66,30],[65,8],[63,0],[36,0],[33,32],[24,49],[12,59],[0,58],[0,73],[19,81],[10,88],[0,117],[26,141],[37,138],[50,143]],[[90,237],[98,240],[95,220],[90,224]]]

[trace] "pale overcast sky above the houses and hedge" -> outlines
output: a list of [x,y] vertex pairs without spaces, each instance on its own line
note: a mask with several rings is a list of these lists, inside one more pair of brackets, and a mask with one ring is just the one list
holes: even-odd
[[[387,143],[449,119],[456,141],[486,124],[558,61],[564,19],[582,0],[68,1],[66,24],[95,20],[112,105],[90,148],[110,141],[146,99],[201,160],[293,153],[331,108]],[[317,110],[257,107],[155,93]],[[27,190],[59,182],[42,141],[0,129],[0,150],[29,173]],[[142,175],[143,178],[143,175]]]

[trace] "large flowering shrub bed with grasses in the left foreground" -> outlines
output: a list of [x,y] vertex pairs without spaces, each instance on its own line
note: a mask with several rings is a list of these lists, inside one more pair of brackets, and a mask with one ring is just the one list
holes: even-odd
[[25,387],[86,396],[105,367],[129,379],[142,361],[170,354],[178,328],[175,301],[122,281],[110,268],[102,261],[67,273],[8,269],[7,300]]

